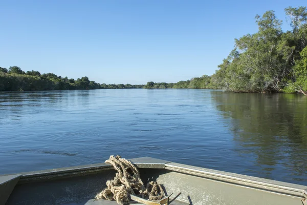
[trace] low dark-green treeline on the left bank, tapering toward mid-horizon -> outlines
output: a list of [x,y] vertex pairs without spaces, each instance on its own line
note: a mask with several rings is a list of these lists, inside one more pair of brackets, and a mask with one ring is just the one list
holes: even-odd
[[0,91],[31,90],[81,90],[81,89],[121,89],[143,88],[144,85],[99,84],[84,76],[77,80],[57,76],[53,73],[40,74],[38,71],[23,71],[17,66],[9,69],[0,67]]

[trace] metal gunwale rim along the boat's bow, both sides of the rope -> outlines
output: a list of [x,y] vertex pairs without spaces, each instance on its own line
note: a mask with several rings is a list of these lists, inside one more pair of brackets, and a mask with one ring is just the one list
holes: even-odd
[[[146,160],[148,161],[146,162]],[[169,170],[189,175],[200,176],[215,181],[232,183],[247,188],[254,188],[258,190],[265,190],[275,193],[277,192],[280,194],[306,197],[304,192],[305,193],[307,192],[306,186],[296,185],[294,183],[287,183],[287,182],[275,181],[259,177],[252,177],[242,174],[212,170],[201,167],[194,167],[194,166],[184,165],[181,163],[155,159],[151,157],[135,158],[131,159],[131,161],[134,162],[139,169]],[[18,173],[21,175],[18,183],[30,183],[33,181],[39,181],[43,179],[53,180],[59,177],[68,178],[71,176],[81,176],[81,175],[84,176],[105,170],[114,170],[114,168],[109,163],[96,163],[92,165],[49,169],[49,170],[34,171],[34,172],[24,172],[24,173]],[[14,174],[0,175],[0,177],[8,175],[14,175]]]

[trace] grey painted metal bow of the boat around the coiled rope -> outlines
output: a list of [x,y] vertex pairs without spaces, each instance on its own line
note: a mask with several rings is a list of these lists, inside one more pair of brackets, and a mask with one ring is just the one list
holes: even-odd
[[[301,205],[307,187],[142,157],[131,159],[142,180],[157,180],[167,194],[182,194],[172,204]],[[6,204],[116,204],[94,201],[113,178],[107,163],[21,173]]]

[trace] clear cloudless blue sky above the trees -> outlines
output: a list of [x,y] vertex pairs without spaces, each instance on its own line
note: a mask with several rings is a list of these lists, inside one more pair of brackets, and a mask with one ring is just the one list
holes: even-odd
[[[306,0],[0,1],[0,67],[97,83],[177,82],[211,75],[255,15]],[[284,26],[288,29],[288,26]]]

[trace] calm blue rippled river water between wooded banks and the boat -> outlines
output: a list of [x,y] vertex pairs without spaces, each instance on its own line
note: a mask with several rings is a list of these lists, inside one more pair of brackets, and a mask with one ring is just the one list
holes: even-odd
[[185,89],[0,92],[0,174],[117,154],[307,185],[307,97]]

